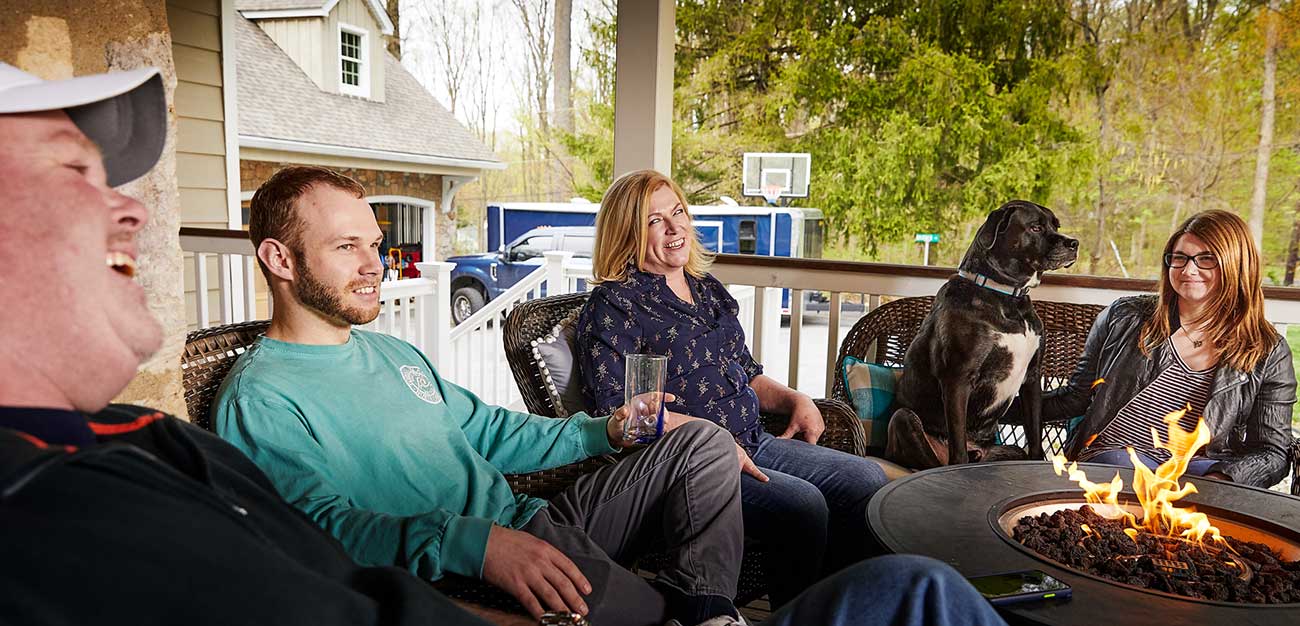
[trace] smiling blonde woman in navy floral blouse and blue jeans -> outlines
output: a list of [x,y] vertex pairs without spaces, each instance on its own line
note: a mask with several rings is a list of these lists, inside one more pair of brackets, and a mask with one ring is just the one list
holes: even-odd
[[[625,355],[668,357],[671,408],[736,439],[745,532],[768,547],[780,605],[823,573],[868,556],[866,505],[885,475],[863,457],[816,445],[820,412],[763,375],[710,261],[676,183],[654,170],[615,181],[595,219],[597,286],[577,322],[578,374],[599,412],[623,404]],[[759,410],[789,414],[789,429],[767,434]]]

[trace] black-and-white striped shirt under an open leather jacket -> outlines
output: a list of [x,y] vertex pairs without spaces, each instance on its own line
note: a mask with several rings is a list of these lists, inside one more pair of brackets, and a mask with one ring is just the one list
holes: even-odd
[[1079,455],[1080,461],[1110,449],[1131,447],[1165,462],[1170,452],[1152,447],[1150,430],[1154,427],[1164,442],[1169,432],[1165,416],[1182,409],[1187,409],[1187,414],[1178,421],[1178,425],[1186,431],[1196,429],[1197,419],[1205,412],[1205,403],[1210,399],[1214,368],[1192,370],[1178,355],[1173,340],[1165,348],[1164,369],[1160,375],[1119,409],[1097,439]]

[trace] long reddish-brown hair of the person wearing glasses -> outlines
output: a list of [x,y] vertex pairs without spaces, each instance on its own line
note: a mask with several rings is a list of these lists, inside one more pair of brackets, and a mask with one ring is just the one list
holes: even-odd
[[1245,222],[1226,210],[1197,213],[1169,236],[1161,253],[1156,314],[1143,325],[1141,351],[1150,355],[1150,349],[1167,340],[1175,330],[1170,318],[1176,312],[1178,292],[1169,282],[1169,266],[1164,258],[1174,252],[1174,244],[1184,234],[1200,238],[1218,258],[1218,290],[1210,295],[1204,319],[1195,322],[1206,322],[1205,338],[1212,342],[1221,362],[1249,371],[1273,351],[1278,331],[1264,318],[1260,251]]

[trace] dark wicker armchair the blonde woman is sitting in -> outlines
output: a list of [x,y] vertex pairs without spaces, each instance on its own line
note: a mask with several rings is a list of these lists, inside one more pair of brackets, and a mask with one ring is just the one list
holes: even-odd
[[[524,396],[528,410],[547,417],[568,417],[567,410],[556,407],[555,400],[547,388],[554,388],[554,382],[538,362],[533,351],[533,342],[550,335],[556,325],[569,318],[586,303],[588,294],[571,294],[562,296],[530,300],[516,307],[506,317],[504,343],[506,360],[510,370],[515,374],[515,382]],[[826,432],[818,442],[820,445],[845,451],[862,456],[866,451],[866,436],[862,425],[849,404],[841,400],[815,400],[822,410],[826,422]],[[786,417],[762,414],[763,427],[774,434],[780,434],[788,423]],[[655,569],[658,558],[650,556],[642,558],[645,569]],[[736,594],[736,604],[745,605],[766,594],[766,574],[763,573],[763,553],[759,548],[746,548],[745,561],[741,564],[740,582]]]

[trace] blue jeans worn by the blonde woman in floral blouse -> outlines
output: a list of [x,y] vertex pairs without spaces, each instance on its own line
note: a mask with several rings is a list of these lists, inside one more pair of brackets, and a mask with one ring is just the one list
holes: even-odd
[[[753,455],[770,482],[741,475],[745,535],[767,558],[772,607],[831,571],[876,553],[867,501],[887,482],[875,462],[807,443],[759,435]],[[827,552],[827,547],[833,551]]]

